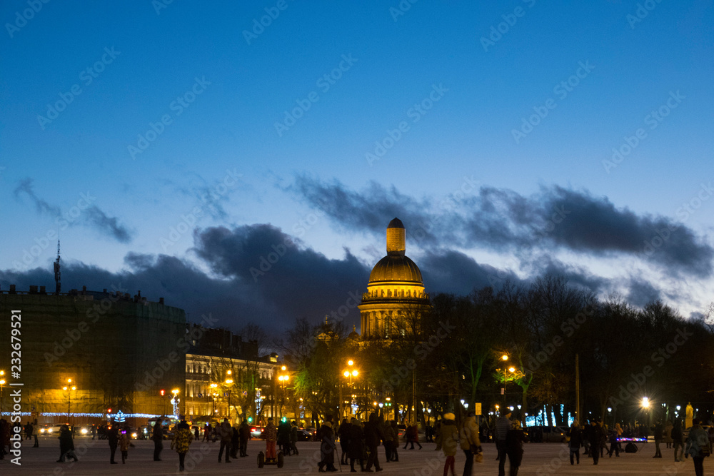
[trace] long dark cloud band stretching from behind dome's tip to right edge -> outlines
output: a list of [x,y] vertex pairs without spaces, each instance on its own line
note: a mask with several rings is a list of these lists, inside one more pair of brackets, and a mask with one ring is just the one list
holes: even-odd
[[298,176],[293,190],[351,231],[379,236],[385,224],[398,216],[408,239],[424,248],[448,243],[501,253],[565,249],[588,255],[631,255],[673,275],[705,278],[713,273],[714,249],[683,224],[638,215],[615,207],[607,198],[558,186],[528,197],[482,186],[470,194],[416,200],[378,183],[356,192],[338,182]]

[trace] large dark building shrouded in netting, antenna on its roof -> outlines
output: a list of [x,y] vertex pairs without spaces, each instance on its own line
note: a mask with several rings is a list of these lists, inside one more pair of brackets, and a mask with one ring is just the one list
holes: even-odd
[[[19,316],[19,317],[15,317]],[[12,323],[21,323],[19,361],[11,361]],[[22,383],[23,420],[89,422],[113,414],[171,413],[171,390],[183,389],[186,313],[128,293],[0,290],[0,370]],[[17,367],[14,365],[17,364]],[[16,376],[13,373],[16,372]],[[71,379],[71,382],[69,381]],[[66,388],[66,389],[65,389]],[[161,397],[160,390],[166,395]],[[96,422],[96,420],[94,420]]]

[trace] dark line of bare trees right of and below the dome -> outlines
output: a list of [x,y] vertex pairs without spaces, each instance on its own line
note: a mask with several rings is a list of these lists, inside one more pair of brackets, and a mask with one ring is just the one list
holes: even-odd
[[[699,409],[695,417],[708,419],[714,408],[712,329],[659,301],[640,309],[617,295],[599,300],[546,275],[467,296],[436,295],[432,304],[421,319],[405,310],[388,340],[361,342],[341,323],[299,320],[277,343],[296,375],[286,399],[325,415],[336,411],[341,384],[343,401],[353,400],[358,412],[378,402],[413,421],[415,401],[418,420],[429,416],[422,409],[432,417],[460,412],[461,400],[481,403],[484,415],[506,402],[521,405],[514,414],[522,420],[543,410],[562,425],[563,413],[575,412],[577,355],[581,420],[674,418],[677,405],[683,417],[688,402]],[[351,387],[343,375],[348,359],[359,371]]]

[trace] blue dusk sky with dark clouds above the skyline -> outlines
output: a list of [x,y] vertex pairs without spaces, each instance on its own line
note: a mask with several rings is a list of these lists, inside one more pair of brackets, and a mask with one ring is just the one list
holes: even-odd
[[713,2],[466,3],[2,2],[0,288],[54,289],[59,233],[63,291],[318,323],[398,217],[432,294],[704,312]]

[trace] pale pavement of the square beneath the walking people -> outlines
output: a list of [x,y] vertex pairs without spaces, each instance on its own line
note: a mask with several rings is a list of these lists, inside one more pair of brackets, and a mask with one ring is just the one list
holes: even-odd
[[[41,437],[39,448],[32,447],[31,441],[21,446],[21,465],[11,462],[11,455],[0,460],[0,475],[316,475],[317,462],[320,459],[320,447],[317,442],[298,442],[299,455],[285,457],[285,465],[278,469],[266,466],[258,469],[257,456],[265,449],[265,443],[258,440],[248,442],[248,457],[236,458],[230,463],[218,462],[218,442],[193,442],[186,455],[186,471],[178,472],[178,456],[170,449],[170,442],[164,442],[164,451],[160,462],[153,461],[154,443],[136,441],[129,450],[129,459],[121,464],[121,453],[116,452],[118,465],[109,464],[109,445],[106,440],[91,440],[79,437],[75,442],[79,462],[58,463],[59,442],[56,438]],[[558,443],[527,443],[523,454],[523,464],[519,476],[535,475],[608,475],[608,476],[672,476],[694,475],[691,459],[681,463],[674,462],[671,449],[663,448],[663,458],[653,458],[654,445],[640,444],[636,453],[620,453],[620,457],[600,458],[598,465],[593,460],[580,455],[580,465],[570,465],[568,450]],[[663,445],[664,446],[664,445]],[[384,462],[384,448],[379,447],[379,459],[384,470],[382,475],[431,476],[443,475],[445,457],[441,451],[435,451],[433,443],[423,443],[423,450],[399,450],[398,462]],[[483,463],[474,463],[473,475],[498,475],[496,447],[483,445]],[[456,455],[456,475],[463,474],[463,452]],[[337,465],[338,469],[339,466]],[[342,472],[349,472],[349,467],[342,467]],[[506,463],[508,474],[508,462]],[[714,476],[713,458],[705,458],[704,474]]]

